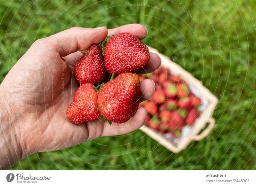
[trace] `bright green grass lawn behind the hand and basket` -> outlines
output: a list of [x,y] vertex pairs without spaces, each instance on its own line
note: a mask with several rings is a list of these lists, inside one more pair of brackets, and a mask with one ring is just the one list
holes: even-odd
[[[102,137],[60,151],[37,153],[15,164],[12,170],[162,170],[168,166],[170,170],[256,169],[255,86],[251,89],[256,74],[255,1],[186,1],[183,9],[178,1],[143,1],[150,7],[128,6],[126,1],[77,1],[68,10],[72,1],[37,1],[32,7],[28,3],[23,1],[20,4],[17,0],[0,2],[2,41],[9,29],[0,53],[0,80],[36,39],[44,37],[51,24],[48,35],[74,26],[111,28],[140,23],[166,32],[148,28],[144,43],[169,56],[218,98],[222,95],[222,100],[214,113],[216,127],[212,133],[189,144],[179,154],[160,145],[144,158],[135,160],[158,144],[141,131],[135,131],[124,136]],[[156,10],[151,5],[168,11]],[[185,10],[201,24],[191,19]],[[62,11],[63,15],[52,23]],[[236,83],[237,72],[240,74]],[[244,106],[250,90],[253,93]],[[171,166],[176,159],[179,160]]]

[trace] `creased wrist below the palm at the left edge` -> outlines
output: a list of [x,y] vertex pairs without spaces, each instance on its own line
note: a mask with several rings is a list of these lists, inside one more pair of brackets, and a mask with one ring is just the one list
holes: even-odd
[[8,169],[24,158],[20,144],[19,112],[15,111],[12,98],[8,96],[4,86],[0,85],[0,169]]

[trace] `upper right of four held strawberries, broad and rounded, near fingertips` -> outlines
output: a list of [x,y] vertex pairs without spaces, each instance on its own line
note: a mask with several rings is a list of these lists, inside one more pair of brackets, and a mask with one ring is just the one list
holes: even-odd
[[104,53],[107,71],[116,75],[135,72],[149,61],[148,47],[129,33],[119,33],[110,38]]

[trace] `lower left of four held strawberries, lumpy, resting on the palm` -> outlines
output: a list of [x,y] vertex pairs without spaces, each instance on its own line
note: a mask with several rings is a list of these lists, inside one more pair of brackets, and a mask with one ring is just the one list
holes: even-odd
[[98,120],[97,92],[91,83],[84,83],[76,90],[72,103],[68,106],[66,115],[75,124]]

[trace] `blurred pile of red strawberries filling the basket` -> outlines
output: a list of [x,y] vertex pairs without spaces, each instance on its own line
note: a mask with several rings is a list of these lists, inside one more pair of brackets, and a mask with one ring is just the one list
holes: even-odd
[[152,97],[140,103],[145,107],[145,124],[161,133],[179,137],[186,125],[193,125],[200,115],[200,98],[189,89],[188,84],[169,69],[159,67],[156,71],[140,76],[140,81],[149,78],[156,83]]

